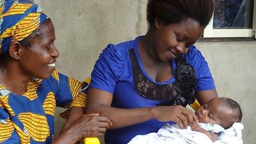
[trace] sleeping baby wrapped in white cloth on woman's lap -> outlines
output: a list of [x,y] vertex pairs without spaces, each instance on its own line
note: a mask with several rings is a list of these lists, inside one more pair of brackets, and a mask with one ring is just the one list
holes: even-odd
[[[129,143],[232,143],[236,138],[236,141],[242,142],[243,125],[237,123],[241,122],[242,110],[236,101],[230,98],[211,99],[196,110],[195,115],[199,123],[194,121],[188,129],[179,129],[177,124],[166,124],[157,133],[138,135]],[[226,130],[228,128],[231,130]]]

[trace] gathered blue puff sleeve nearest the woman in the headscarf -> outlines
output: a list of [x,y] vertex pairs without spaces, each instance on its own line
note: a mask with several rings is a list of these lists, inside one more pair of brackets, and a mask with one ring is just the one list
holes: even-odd
[[91,74],[90,88],[105,90],[114,94],[116,83],[124,70],[121,52],[114,45],[108,45],[95,63]]

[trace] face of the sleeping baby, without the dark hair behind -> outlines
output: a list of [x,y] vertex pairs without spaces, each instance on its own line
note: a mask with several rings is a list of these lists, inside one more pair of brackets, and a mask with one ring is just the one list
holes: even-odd
[[227,129],[233,124],[232,110],[226,107],[226,100],[214,98],[195,111],[199,122],[218,124]]

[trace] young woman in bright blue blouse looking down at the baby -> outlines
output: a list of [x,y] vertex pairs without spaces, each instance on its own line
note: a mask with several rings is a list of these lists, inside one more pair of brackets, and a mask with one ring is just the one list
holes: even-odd
[[106,143],[127,143],[166,122],[186,128],[197,117],[184,107],[217,97],[207,62],[193,46],[213,10],[213,0],[149,0],[147,34],[106,47],[87,99],[87,112],[113,121]]

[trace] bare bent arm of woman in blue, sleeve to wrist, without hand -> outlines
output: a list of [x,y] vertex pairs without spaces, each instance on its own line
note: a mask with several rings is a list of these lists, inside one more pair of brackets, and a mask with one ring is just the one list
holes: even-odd
[[153,119],[151,108],[119,109],[111,107],[113,94],[89,88],[86,113],[100,113],[113,121],[111,128],[120,128]]

